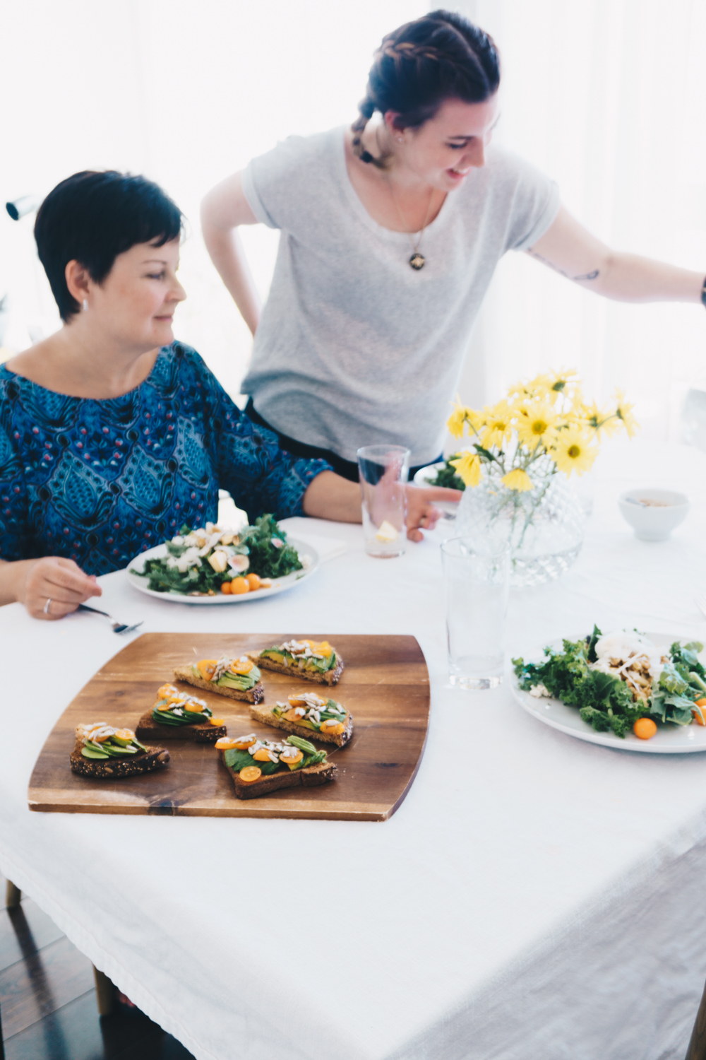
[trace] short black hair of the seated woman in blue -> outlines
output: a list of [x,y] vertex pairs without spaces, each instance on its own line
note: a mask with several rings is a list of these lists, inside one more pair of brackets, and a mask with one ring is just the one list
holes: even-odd
[[34,237],[61,319],[78,313],[69,294],[66,267],[78,261],[103,283],[117,254],[137,243],[164,246],[180,236],[182,213],[145,177],[84,170],[54,188],[37,211]]

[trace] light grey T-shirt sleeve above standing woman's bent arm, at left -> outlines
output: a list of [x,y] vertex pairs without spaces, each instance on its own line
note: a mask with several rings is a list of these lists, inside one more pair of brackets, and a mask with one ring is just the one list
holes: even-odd
[[248,163],[242,173],[242,191],[263,225],[291,232],[302,212],[308,212],[319,195],[330,136],[290,136]]

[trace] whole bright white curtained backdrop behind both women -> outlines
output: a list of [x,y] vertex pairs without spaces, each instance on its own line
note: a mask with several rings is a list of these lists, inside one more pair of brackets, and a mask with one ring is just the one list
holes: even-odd
[[[453,6],[453,4],[452,4]],[[559,181],[567,208],[618,248],[706,273],[706,0],[465,0],[503,57],[496,136]],[[158,180],[189,219],[178,335],[237,394],[250,336],[198,227],[203,193],[289,132],[350,121],[384,32],[427,0],[23,0],[2,19],[0,198],[80,169]],[[5,346],[56,328],[33,218],[0,217]],[[246,232],[265,295],[276,233]],[[472,338],[469,403],[514,377],[576,367],[592,396],[623,386],[644,435],[678,435],[706,375],[706,311],[623,305],[525,254],[502,262]]]

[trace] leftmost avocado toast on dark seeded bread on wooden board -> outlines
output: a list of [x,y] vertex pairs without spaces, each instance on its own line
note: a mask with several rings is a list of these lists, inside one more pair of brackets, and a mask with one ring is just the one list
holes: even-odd
[[69,756],[73,773],[84,777],[117,780],[151,773],[169,761],[166,747],[146,747],[132,729],[116,729],[105,722],[77,725],[76,743]]

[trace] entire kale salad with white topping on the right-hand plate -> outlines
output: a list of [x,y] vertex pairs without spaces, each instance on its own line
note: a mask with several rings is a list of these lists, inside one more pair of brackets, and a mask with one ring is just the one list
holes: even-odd
[[521,689],[576,707],[597,732],[649,740],[657,725],[706,724],[704,646],[680,641],[663,652],[637,631],[603,635],[597,626],[581,640],[545,648],[542,662],[512,659]]

